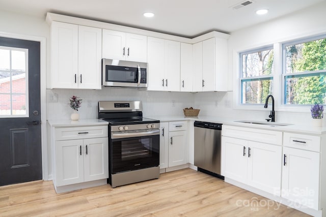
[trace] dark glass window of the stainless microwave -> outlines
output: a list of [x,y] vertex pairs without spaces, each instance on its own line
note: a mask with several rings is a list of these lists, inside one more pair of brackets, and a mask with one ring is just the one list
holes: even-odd
[[111,82],[137,82],[137,68],[106,66],[106,81]]

